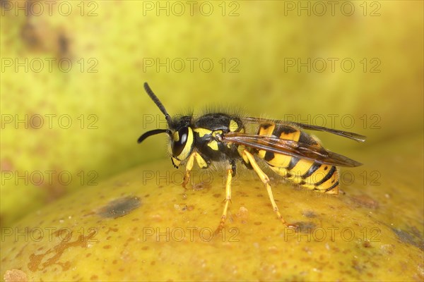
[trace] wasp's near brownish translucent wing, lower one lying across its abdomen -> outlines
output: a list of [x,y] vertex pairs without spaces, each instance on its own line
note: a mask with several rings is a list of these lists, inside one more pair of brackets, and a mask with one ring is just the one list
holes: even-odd
[[300,159],[309,159],[319,164],[348,167],[362,165],[360,162],[344,157],[341,154],[330,152],[320,145],[309,145],[278,137],[234,132],[221,135],[221,139],[224,143],[243,145],[253,149],[264,150],[275,154],[285,154]]

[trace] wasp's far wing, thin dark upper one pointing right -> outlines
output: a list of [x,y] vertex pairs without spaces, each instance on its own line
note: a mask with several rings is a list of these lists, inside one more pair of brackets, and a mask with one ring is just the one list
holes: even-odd
[[288,126],[294,126],[296,128],[302,128],[305,130],[317,130],[317,131],[324,131],[327,133],[333,133],[335,135],[343,136],[355,141],[364,142],[365,139],[367,139],[366,136],[360,135],[357,133],[351,133],[348,131],[343,130],[336,130],[331,128],[324,128],[323,126],[318,125],[310,125],[305,123],[295,123],[294,121],[279,121],[279,120],[272,120],[272,119],[266,119],[266,118],[242,118],[245,123],[276,123],[281,125],[288,125]]

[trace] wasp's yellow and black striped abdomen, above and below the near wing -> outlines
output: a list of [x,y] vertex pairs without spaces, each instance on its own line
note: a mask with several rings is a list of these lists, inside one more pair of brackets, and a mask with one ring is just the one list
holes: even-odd
[[[285,140],[322,147],[318,140],[298,128],[276,123],[259,125],[258,135],[275,136]],[[295,184],[310,190],[328,194],[338,194],[338,169],[329,164],[319,164],[309,159],[276,154],[259,149],[258,156],[270,168]]]

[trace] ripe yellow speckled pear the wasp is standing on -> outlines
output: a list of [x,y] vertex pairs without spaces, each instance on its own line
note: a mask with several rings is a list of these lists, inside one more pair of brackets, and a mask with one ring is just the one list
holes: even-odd
[[[86,187],[3,228],[1,275],[28,281],[420,281],[423,279],[423,169],[412,137],[350,152],[367,165],[342,170],[343,195],[293,188],[271,175],[233,179],[220,233],[223,175],[152,162]],[[387,154],[396,148],[397,154]],[[397,157],[396,157],[397,156]],[[403,156],[399,158],[399,156]],[[393,166],[393,161],[397,166]],[[404,169],[399,169],[404,167]],[[377,176],[370,173],[375,171]],[[408,204],[405,204],[408,202]],[[26,280],[25,280],[26,281]]]

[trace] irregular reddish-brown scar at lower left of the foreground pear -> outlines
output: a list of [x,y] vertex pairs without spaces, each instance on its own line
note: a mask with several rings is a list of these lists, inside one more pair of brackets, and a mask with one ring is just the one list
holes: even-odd
[[[72,238],[72,233],[73,231],[70,231],[69,238]],[[30,262],[28,263],[28,269],[35,272],[37,270],[44,270],[48,266],[57,264],[61,266],[62,271],[68,270],[71,267],[71,262],[59,262],[59,259],[64,251],[70,247],[87,247],[88,240],[90,240],[90,238],[92,238],[96,233],[97,232],[89,233],[86,236],[79,235],[78,238],[73,242],[61,240],[58,245],[50,248],[40,255],[31,254]]]

